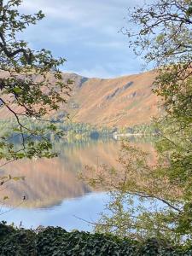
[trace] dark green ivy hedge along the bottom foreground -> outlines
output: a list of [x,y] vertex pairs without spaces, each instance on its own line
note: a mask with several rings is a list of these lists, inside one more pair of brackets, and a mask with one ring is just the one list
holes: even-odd
[[48,227],[36,233],[33,230],[14,229],[0,224],[0,255],[56,256],[56,255],[192,255],[192,247],[182,250],[168,246],[154,238],[144,242],[119,239],[118,236],[67,232],[59,227]]

